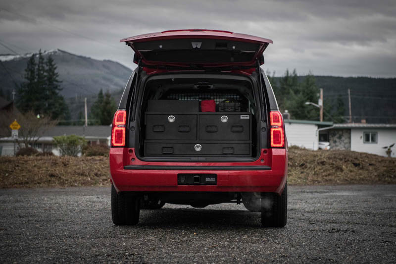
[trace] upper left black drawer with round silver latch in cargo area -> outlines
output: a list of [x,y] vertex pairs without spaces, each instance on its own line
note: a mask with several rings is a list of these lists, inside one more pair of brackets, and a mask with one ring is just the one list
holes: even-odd
[[197,114],[146,112],[146,139],[196,140]]

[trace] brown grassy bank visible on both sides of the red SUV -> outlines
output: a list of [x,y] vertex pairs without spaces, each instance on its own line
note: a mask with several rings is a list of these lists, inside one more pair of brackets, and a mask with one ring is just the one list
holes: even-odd
[[[0,188],[109,186],[108,157],[0,157]],[[396,158],[289,150],[289,184],[396,184]]]

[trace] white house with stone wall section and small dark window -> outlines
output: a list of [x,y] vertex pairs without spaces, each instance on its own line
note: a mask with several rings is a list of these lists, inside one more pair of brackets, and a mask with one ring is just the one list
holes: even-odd
[[[384,147],[396,143],[396,124],[334,124],[320,131],[332,150],[351,150],[387,156]],[[391,157],[396,157],[396,146]]]

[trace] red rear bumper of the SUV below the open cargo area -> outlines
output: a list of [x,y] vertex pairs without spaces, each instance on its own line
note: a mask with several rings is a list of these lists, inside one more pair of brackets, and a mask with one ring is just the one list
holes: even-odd
[[[130,148],[111,148],[109,156],[111,181],[121,192],[281,194],[287,179],[285,149],[262,150],[260,158],[253,162],[146,162],[136,158],[135,150]],[[213,173],[217,185],[178,185],[179,173]]]

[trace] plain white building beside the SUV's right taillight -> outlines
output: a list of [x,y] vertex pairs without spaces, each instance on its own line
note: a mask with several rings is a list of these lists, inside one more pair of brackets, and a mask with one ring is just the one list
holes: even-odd
[[[285,131],[289,146],[318,150],[319,129],[331,127],[333,122],[285,119]],[[328,141],[325,138],[320,141]]]

